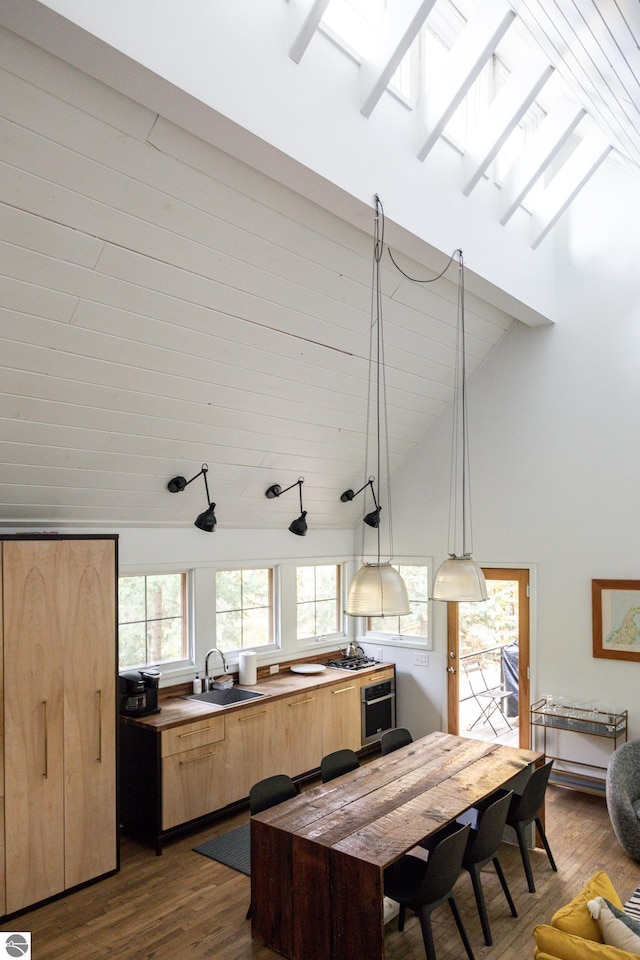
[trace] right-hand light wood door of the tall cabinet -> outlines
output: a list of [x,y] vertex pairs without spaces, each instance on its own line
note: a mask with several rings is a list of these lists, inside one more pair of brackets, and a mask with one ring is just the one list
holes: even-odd
[[66,541],[65,886],[117,866],[115,546]]

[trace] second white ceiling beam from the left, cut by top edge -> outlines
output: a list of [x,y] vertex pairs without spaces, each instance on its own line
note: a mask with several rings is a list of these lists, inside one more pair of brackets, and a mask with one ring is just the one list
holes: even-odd
[[379,46],[360,68],[364,95],[360,113],[363,117],[371,116],[434,3],[435,0],[401,0],[384,11],[378,31]]

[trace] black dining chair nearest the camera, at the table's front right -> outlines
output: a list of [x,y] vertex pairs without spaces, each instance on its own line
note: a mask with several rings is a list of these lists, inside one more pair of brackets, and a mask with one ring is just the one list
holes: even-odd
[[468,823],[458,825],[457,829],[448,833],[434,846],[428,860],[406,854],[384,872],[384,894],[400,904],[398,930],[404,930],[408,907],[420,918],[427,960],[436,960],[431,914],[445,901],[453,914],[467,957],[475,960],[451,892],[460,872],[470,829]]

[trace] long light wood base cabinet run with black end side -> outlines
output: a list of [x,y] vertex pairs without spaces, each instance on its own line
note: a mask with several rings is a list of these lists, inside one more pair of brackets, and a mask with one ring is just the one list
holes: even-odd
[[121,823],[161,853],[165,837],[245,800],[258,780],[299,777],[318,770],[325,753],[360,750],[361,687],[393,676],[386,665],[335,681],[327,672],[319,682],[300,681],[300,692],[285,677],[259,685],[264,699],[197,719],[179,695],[159,714],[121,717]]

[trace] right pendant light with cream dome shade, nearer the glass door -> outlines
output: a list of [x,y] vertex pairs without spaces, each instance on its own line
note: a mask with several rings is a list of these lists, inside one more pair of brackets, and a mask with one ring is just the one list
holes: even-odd
[[[476,601],[487,599],[487,584],[472,559],[469,429],[467,423],[467,370],[464,323],[464,259],[458,255],[458,333],[456,378],[451,440],[449,493],[449,559],[441,564],[433,582],[434,600]],[[458,552],[459,551],[459,552]]]

